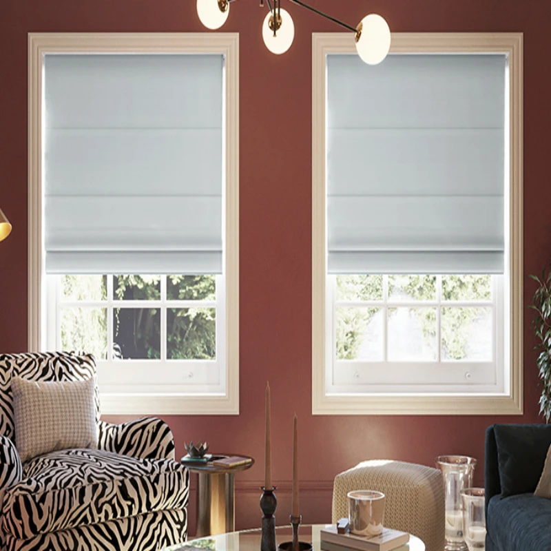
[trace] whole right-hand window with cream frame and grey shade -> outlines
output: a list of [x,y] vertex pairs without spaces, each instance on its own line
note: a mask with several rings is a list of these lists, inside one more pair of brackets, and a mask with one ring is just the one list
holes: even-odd
[[522,412],[521,35],[313,42],[313,413]]

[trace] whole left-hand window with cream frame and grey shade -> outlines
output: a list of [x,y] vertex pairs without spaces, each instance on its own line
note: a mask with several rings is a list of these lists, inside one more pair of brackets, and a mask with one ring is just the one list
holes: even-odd
[[238,413],[237,36],[30,54],[30,348],[94,353],[105,413]]

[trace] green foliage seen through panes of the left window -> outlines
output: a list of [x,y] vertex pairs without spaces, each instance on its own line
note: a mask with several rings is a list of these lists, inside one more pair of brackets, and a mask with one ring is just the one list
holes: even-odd
[[[169,275],[167,300],[216,300],[214,275]],[[160,358],[158,307],[133,306],[131,301],[160,300],[160,275],[115,275],[113,299],[114,353],[123,359]],[[65,275],[65,301],[105,301],[107,276]],[[216,309],[167,308],[167,358],[169,360],[216,359]],[[91,351],[107,357],[107,309],[62,308],[61,343],[64,349]]]

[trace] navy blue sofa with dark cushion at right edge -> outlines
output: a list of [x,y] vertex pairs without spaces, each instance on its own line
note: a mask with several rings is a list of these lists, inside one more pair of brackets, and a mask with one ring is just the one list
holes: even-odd
[[486,430],[486,551],[551,550],[551,499],[534,496],[550,445],[550,425]]

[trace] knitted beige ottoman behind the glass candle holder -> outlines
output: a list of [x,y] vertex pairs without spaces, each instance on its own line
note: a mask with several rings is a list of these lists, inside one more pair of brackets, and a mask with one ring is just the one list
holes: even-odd
[[444,550],[444,483],[439,470],[402,461],[363,461],[335,477],[333,522],[349,516],[346,494],[351,490],[383,492],[384,526],[421,538],[426,551]]

